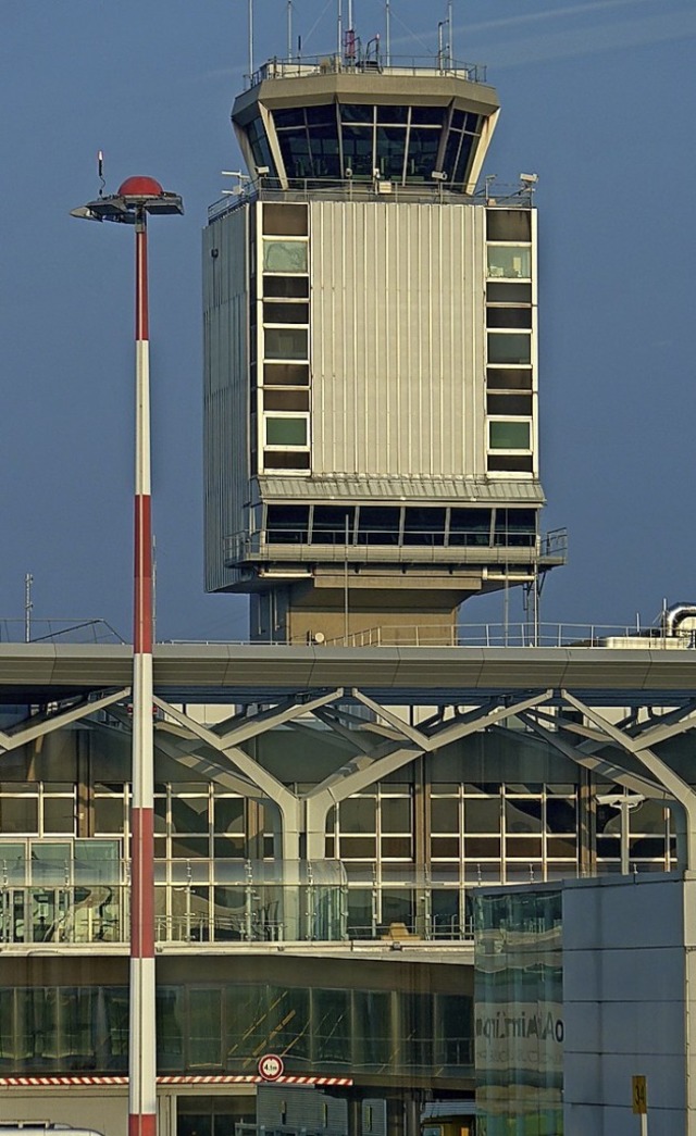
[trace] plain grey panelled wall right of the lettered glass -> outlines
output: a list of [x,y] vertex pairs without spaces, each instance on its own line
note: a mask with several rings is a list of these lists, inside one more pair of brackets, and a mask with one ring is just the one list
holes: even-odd
[[658,876],[564,884],[564,1136],[637,1136],[636,1075],[647,1077],[651,1136],[696,1133],[685,1022],[694,888]]

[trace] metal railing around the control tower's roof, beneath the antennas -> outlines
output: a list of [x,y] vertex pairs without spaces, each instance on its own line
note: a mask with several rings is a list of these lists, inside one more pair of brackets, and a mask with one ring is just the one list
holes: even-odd
[[381,53],[356,51],[345,56],[338,52],[323,56],[293,56],[281,59],[274,56],[266,60],[251,76],[249,86],[257,86],[267,80],[308,78],[313,75],[396,75],[432,76],[453,75],[469,83],[486,83],[486,67],[451,59],[446,51],[436,56],[393,56],[389,62]]

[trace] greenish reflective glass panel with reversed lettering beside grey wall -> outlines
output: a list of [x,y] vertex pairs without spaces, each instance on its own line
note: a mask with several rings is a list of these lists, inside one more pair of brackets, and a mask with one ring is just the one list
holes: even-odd
[[563,1134],[563,936],[560,891],[478,894],[477,1131]]

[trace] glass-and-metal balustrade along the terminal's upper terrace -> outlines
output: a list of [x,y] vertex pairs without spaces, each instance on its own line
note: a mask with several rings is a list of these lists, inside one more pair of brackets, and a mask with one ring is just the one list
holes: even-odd
[[[1,849],[0,849],[1,855]],[[73,862],[2,861],[0,949],[125,949],[130,864],[94,871]],[[471,939],[467,892],[415,864],[348,879],[338,860],[157,860],[155,935],[160,947],[231,950],[277,943],[462,943]],[[364,877],[364,878],[363,878]],[[77,882],[80,880],[80,882]]]

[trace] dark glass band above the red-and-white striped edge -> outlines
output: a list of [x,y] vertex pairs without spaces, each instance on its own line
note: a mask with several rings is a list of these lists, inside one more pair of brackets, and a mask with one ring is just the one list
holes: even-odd
[[[456,991],[160,984],[160,1074],[255,1074],[274,1052],[291,1074],[473,1077],[472,1000]],[[0,986],[0,1071],[127,1071],[126,985]]]

